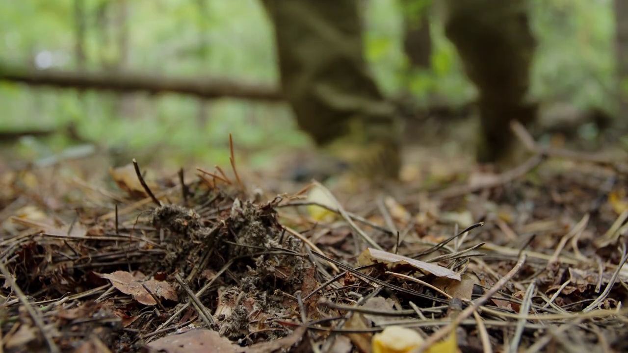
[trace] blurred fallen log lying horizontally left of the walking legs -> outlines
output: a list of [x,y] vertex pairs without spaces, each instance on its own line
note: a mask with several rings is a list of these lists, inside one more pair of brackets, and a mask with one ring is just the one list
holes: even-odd
[[272,85],[251,84],[224,79],[183,79],[141,73],[81,73],[60,70],[28,70],[0,63],[0,80],[33,86],[73,89],[112,90],[115,92],[175,93],[205,99],[236,98],[279,102],[283,95]]

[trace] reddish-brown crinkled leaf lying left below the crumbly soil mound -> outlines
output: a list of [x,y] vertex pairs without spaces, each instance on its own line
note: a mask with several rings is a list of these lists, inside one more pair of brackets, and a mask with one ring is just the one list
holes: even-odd
[[151,293],[159,298],[176,300],[176,291],[170,283],[156,280],[144,281],[145,276],[143,273],[138,271],[134,274],[127,271],[116,271],[109,274],[99,274],[99,276],[111,281],[111,284],[117,290],[133,296],[135,300],[144,305],[156,305],[157,303],[142,285],[145,285]]

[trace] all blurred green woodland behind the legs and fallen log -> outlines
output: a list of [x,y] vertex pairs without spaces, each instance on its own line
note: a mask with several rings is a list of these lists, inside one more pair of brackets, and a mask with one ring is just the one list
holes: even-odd
[[[453,111],[474,99],[474,88],[445,39],[438,1],[431,6],[418,1],[413,9],[396,0],[362,4],[366,56],[389,97],[409,97],[419,109],[437,105]],[[544,106],[620,116],[622,84],[615,62],[621,53],[615,48],[621,45],[616,29],[624,15],[615,9],[621,7],[611,0],[531,1],[539,41],[532,94]],[[423,34],[430,40],[423,44],[429,50],[422,66],[413,65],[404,50],[408,16],[426,19]],[[257,0],[0,1],[0,65],[269,87],[278,82],[271,23]],[[239,157],[255,166],[278,151],[310,146],[281,102],[78,91],[0,80],[0,131],[30,130],[59,133],[6,138],[11,149],[4,153],[36,160],[88,141],[166,165],[214,165],[228,163],[232,133]],[[595,135],[590,129],[580,132],[578,138]]]

